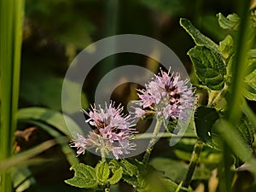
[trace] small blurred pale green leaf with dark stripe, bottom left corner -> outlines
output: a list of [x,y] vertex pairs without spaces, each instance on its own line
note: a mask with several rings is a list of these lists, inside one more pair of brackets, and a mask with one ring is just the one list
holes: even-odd
[[32,177],[32,172],[26,166],[14,168],[13,181],[16,192],[25,191],[36,183],[35,178]]

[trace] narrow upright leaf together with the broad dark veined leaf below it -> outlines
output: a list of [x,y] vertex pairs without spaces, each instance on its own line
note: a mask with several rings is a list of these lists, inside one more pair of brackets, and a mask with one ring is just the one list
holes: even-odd
[[218,44],[204,36],[189,20],[181,19],[180,25],[189,32],[196,44],[189,50],[188,55],[193,62],[197,78],[211,90],[223,89],[226,67]]

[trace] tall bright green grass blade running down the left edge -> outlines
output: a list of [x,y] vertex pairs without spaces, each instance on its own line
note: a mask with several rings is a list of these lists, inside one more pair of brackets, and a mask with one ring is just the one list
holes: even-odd
[[[0,160],[8,159],[14,148],[20,83],[24,1],[0,0],[1,125]],[[0,191],[12,191],[10,172],[1,174]]]

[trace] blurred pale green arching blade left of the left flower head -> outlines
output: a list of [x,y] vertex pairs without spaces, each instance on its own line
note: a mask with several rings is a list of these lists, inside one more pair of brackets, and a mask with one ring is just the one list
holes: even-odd
[[45,124],[55,127],[65,135],[72,137],[72,133],[68,130],[64,117],[68,120],[68,124],[72,125],[72,131],[82,133],[79,125],[73,119],[69,118],[66,114],[62,114],[49,108],[21,108],[18,111],[19,120],[38,120]]

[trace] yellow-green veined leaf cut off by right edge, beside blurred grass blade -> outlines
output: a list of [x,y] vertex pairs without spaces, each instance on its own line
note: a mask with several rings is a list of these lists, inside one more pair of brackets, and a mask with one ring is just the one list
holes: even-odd
[[247,67],[250,73],[244,79],[242,93],[248,100],[256,101],[256,60],[250,60],[251,63]]

